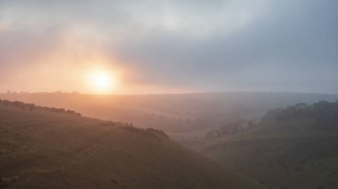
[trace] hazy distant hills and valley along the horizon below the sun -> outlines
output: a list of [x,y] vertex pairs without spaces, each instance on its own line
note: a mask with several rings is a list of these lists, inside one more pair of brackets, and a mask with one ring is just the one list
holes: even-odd
[[204,92],[149,95],[85,95],[77,92],[8,92],[0,98],[64,107],[84,115],[171,133],[219,128],[238,119],[261,117],[270,108],[298,102],[335,101],[338,95],[294,92]]

